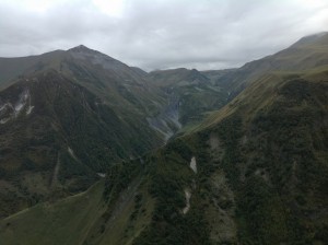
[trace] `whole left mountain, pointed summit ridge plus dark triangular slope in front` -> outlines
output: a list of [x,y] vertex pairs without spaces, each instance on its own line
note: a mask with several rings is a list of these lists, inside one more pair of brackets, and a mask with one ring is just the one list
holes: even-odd
[[147,118],[166,98],[118,60],[79,46],[0,63],[0,217],[81,191],[164,142]]

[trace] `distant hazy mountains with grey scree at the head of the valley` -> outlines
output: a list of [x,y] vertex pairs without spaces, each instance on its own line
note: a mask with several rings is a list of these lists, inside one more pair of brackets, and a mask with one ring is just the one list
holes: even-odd
[[150,80],[172,97],[183,130],[195,127],[207,112],[227,103],[229,92],[215,83],[225,71],[213,73],[185,68],[150,72]]

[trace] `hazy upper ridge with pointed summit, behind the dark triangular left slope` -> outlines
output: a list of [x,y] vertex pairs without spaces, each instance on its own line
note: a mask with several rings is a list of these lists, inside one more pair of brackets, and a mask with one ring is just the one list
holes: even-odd
[[0,58],[0,65],[2,88],[19,77],[54,69],[83,85],[126,117],[137,110],[141,110],[139,114],[156,113],[159,103],[165,103],[142,72],[83,45],[40,56]]

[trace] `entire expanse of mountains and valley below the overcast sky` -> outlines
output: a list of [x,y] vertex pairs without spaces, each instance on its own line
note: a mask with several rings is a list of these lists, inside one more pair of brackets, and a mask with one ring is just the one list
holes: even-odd
[[0,85],[3,244],[328,241],[327,33],[218,71],[0,58]]

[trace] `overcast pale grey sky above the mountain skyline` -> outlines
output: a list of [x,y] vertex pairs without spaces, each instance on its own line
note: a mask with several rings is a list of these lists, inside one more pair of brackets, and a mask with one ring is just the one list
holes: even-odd
[[239,67],[327,28],[328,0],[0,0],[0,57],[83,44],[148,71]]

